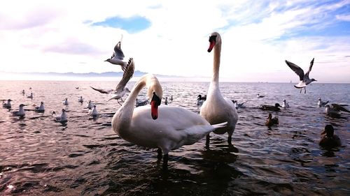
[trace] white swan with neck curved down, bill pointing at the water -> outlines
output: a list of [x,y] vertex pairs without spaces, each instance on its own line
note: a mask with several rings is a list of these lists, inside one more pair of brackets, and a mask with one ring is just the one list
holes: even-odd
[[[148,87],[147,95],[151,98],[151,105],[134,107],[137,96],[144,86]],[[194,144],[211,131],[226,124],[211,126],[195,112],[168,105],[158,107],[161,100],[162,86],[157,77],[151,74],[142,76],[114,114],[112,128],[128,142],[158,148],[158,158],[162,158],[162,153],[164,155],[163,165],[167,165],[169,151],[183,145]]]

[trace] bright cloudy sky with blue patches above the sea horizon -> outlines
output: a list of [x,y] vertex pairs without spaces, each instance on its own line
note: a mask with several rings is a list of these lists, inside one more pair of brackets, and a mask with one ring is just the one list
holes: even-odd
[[120,71],[104,60],[123,35],[136,70],[211,77],[213,31],[221,81],[297,82],[284,61],[306,71],[315,58],[311,78],[350,82],[350,0],[6,1],[0,72]]

